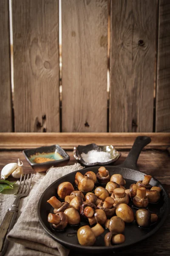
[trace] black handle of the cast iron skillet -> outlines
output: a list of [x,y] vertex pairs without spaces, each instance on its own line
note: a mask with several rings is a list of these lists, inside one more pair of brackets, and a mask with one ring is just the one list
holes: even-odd
[[147,136],[138,136],[136,137],[135,142],[126,158],[126,160],[119,165],[119,167],[125,167],[129,169],[138,170],[139,168],[136,166],[139,154],[141,153],[144,146],[151,142],[151,138]]

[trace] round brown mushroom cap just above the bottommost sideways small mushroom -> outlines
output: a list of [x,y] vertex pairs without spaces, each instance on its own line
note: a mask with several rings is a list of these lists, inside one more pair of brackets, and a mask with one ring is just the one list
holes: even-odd
[[116,235],[119,233],[123,233],[124,230],[125,222],[122,220],[122,218],[113,216],[109,221],[109,231]]

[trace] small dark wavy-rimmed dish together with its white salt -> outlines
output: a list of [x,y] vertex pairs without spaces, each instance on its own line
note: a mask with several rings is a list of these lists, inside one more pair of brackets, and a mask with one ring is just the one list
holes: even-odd
[[121,156],[112,145],[98,146],[95,143],[78,145],[73,153],[77,162],[85,167],[111,165]]

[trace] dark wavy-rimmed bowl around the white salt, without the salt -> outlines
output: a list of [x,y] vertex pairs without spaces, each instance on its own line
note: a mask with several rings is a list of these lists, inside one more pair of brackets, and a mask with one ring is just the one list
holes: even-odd
[[[95,162],[95,163],[87,163],[85,160],[82,159],[81,154],[85,153],[87,154],[88,151],[91,150],[97,150],[97,151],[104,151],[108,152],[111,155],[111,160],[108,162]],[[121,153],[116,150],[112,145],[109,146],[98,146],[95,143],[88,144],[85,146],[78,145],[77,147],[74,147],[74,158],[77,160],[78,163],[80,163],[82,166],[90,167],[90,166],[103,166],[103,165],[112,165],[114,162],[116,162],[119,157],[121,156]]]

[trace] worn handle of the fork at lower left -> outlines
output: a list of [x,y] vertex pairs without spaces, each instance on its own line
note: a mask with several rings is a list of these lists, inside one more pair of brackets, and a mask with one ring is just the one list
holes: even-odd
[[8,232],[14,227],[16,217],[16,211],[8,210],[0,225],[0,256],[4,255],[4,253],[6,252],[9,242],[6,236]]

